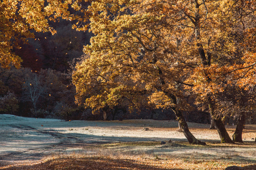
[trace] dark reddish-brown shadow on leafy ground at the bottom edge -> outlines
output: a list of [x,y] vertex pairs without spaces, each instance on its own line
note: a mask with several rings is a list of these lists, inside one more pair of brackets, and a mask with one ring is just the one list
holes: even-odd
[[[143,164],[137,160],[131,159],[112,159],[104,157],[85,157],[85,158],[56,158],[48,160],[44,163],[36,165],[14,165],[5,170],[13,169],[152,169],[152,170],[164,170],[170,168],[161,168],[156,165]],[[176,169],[176,168],[175,168]],[[177,169],[178,170],[178,169]]]

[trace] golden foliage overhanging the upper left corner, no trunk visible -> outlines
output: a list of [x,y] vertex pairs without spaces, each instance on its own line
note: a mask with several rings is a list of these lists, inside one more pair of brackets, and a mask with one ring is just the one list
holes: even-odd
[[[20,49],[21,42],[28,42],[28,38],[34,38],[36,32],[56,33],[49,22],[56,22],[60,18],[75,21],[74,26],[79,28],[82,18],[79,13],[73,11],[82,10],[82,4],[78,1],[16,1],[3,0],[0,3],[0,64],[2,67],[20,66],[22,59],[14,53],[14,49]],[[81,12],[80,12],[81,13]],[[82,13],[84,14],[84,13]],[[86,24],[83,24],[85,28]]]

